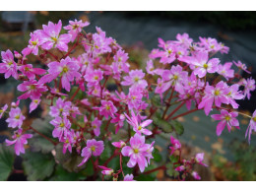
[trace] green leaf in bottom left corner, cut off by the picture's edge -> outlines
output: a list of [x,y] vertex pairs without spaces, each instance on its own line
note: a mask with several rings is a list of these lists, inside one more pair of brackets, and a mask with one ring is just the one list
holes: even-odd
[[10,148],[0,145],[0,180],[7,180],[13,169],[15,155]]

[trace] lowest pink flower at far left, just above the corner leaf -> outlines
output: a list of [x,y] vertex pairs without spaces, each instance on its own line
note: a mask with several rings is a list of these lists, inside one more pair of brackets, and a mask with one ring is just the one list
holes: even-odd
[[18,129],[18,131],[14,133],[15,135],[12,136],[12,138],[14,139],[13,141],[10,141],[8,139],[5,140],[7,146],[11,146],[15,144],[14,149],[17,156],[20,156],[21,153],[25,154],[24,145],[28,144],[27,139],[32,138],[32,134],[23,135],[22,133],[23,133],[23,130]]

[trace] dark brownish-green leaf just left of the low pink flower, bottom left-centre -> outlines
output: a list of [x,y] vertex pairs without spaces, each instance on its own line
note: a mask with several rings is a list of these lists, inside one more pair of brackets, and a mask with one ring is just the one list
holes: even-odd
[[79,156],[74,150],[72,154],[70,154],[68,151],[66,154],[63,154],[62,149],[63,144],[58,144],[55,147],[55,160],[62,164],[63,168],[65,168],[69,172],[80,171],[84,166],[78,166],[78,164],[80,164],[80,162],[83,160],[83,157]]

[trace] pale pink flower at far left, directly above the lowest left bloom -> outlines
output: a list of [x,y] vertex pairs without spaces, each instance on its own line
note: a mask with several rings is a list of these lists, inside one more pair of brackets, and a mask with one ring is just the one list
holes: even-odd
[[6,122],[8,123],[8,127],[12,128],[21,128],[23,125],[23,121],[25,119],[25,116],[23,115],[21,108],[11,108],[9,112],[9,118],[6,119]]

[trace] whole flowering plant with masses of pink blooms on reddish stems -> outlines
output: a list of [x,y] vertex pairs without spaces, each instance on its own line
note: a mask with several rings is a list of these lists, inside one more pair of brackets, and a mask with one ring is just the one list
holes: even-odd
[[[159,155],[155,138],[162,133],[181,135],[184,130],[178,117],[198,110],[208,116],[214,108],[220,111],[211,115],[220,120],[218,136],[225,126],[229,132],[232,126],[239,129],[237,116],[246,114],[238,111],[236,100],[249,99],[255,90],[255,80],[240,76],[241,70],[250,73],[246,65],[240,61],[222,64],[215,55],[226,54],[229,48],[215,38],[194,41],[183,33],[175,40],[159,38],[159,48],[149,55],[146,70],[132,69],[128,54],[116,40],[100,28],[86,32],[89,25],[70,21],[61,33],[61,21],[49,22],[31,33],[21,53],[1,52],[0,73],[20,83],[17,101],[0,109],[0,117],[6,116],[13,132],[6,145],[14,146],[17,156],[26,151],[44,154],[51,146],[46,151],[53,168],[31,178],[35,180],[56,179],[62,170],[76,172],[79,180],[133,181],[160,169],[171,169],[174,180],[189,175],[200,180],[194,165],[207,166],[204,153],[184,160],[180,142],[170,136],[172,161],[152,163]],[[83,52],[78,53],[81,47]],[[31,56],[40,60],[40,68],[30,63]],[[114,91],[108,88],[110,83],[116,85]],[[24,125],[28,116],[20,107],[24,99],[31,102],[29,113],[39,104],[47,106],[50,135],[36,124]],[[178,113],[184,105],[187,111]],[[250,141],[256,131],[256,111],[246,116],[250,123],[245,137]],[[32,155],[24,156],[32,160]],[[32,168],[25,170],[33,172]]]

